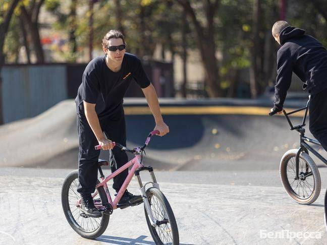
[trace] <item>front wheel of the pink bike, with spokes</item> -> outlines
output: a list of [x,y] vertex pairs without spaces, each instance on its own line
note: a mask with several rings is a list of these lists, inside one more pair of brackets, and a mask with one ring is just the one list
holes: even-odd
[[179,244],[176,219],[167,198],[157,188],[149,188],[146,191],[146,196],[154,219],[157,223],[161,223],[155,227],[152,226],[144,205],[146,223],[155,244]]

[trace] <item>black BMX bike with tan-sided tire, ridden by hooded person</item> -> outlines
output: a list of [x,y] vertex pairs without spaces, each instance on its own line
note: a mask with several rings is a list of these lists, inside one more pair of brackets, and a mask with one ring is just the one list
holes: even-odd
[[[309,100],[305,107],[283,113],[291,126],[300,134],[300,148],[291,149],[283,155],[280,163],[280,177],[286,193],[297,203],[308,205],[313,203],[320,194],[321,179],[317,165],[309,156],[309,152],[315,155],[327,165],[327,160],[314,150],[308,143],[321,146],[317,140],[305,136],[305,120],[308,114]],[[301,125],[293,126],[289,115],[305,110]]]

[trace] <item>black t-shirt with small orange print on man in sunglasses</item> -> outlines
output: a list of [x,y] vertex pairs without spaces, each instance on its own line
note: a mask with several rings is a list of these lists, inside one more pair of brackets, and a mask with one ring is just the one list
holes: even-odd
[[78,88],[75,99],[77,113],[84,115],[83,100],[96,104],[95,111],[99,119],[121,110],[132,78],[141,88],[150,85],[141,60],[131,53],[125,53],[119,72],[113,72],[106,66],[105,56],[92,59],[85,68],[82,84]]

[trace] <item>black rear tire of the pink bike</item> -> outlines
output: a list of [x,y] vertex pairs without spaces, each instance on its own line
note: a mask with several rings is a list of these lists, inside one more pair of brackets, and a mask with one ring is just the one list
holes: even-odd
[[[62,206],[63,206],[64,214],[66,216],[66,219],[67,219],[68,223],[73,228],[73,230],[75,230],[76,233],[78,233],[80,236],[82,236],[84,238],[94,239],[94,238],[100,236],[106,230],[106,228],[108,226],[109,219],[110,219],[110,215],[102,214],[102,219],[101,219],[99,227],[96,230],[92,231],[92,232],[85,232],[83,230],[78,229],[78,227],[76,227],[74,225],[74,223],[71,220],[70,215],[69,215],[70,208],[69,208],[69,202],[68,202],[68,192],[69,192],[69,188],[71,186],[71,183],[76,178],[78,178],[78,170],[74,170],[74,171],[70,172],[67,175],[67,177],[65,178],[65,180],[64,180],[63,187],[62,187],[62,193],[61,193]],[[97,183],[99,183],[99,180],[97,180]],[[107,200],[107,198],[106,198],[103,187],[98,188],[98,194],[100,196],[101,202],[104,203],[104,200]]]

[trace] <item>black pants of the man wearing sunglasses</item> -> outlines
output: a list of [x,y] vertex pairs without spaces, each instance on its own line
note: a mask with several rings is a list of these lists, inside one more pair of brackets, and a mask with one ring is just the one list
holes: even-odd
[[[124,110],[118,110],[118,113],[100,120],[100,126],[108,139],[126,145],[126,125]],[[98,145],[95,135],[90,128],[87,119],[83,115],[77,115],[77,132],[79,136],[79,155],[78,155],[78,179],[79,186],[77,192],[80,194],[89,194],[95,191],[99,150],[94,146]],[[126,152],[118,147],[110,150],[111,170],[114,172],[119,167],[127,163],[128,157]],[[113,188],[118,192],[128,175],[128,169],[114,177]]]

